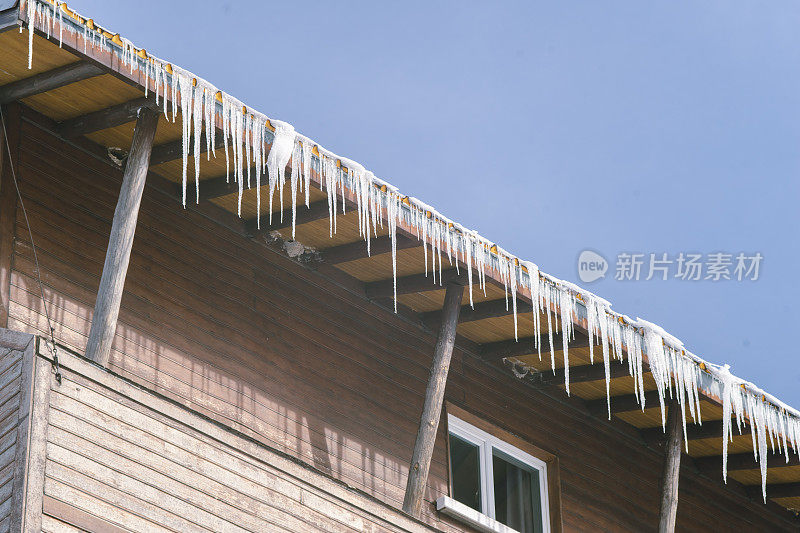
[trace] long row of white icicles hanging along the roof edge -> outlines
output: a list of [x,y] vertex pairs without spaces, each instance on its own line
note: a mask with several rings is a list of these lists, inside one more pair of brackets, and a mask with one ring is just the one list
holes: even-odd
[[[312,183],[327,193],[330,234],[336,233],[338,208],[344,213],[348,204],[358,213],[358,227],[369,251],[370,239],[388,232],[392,248],[392,276],[397,284],[397,234],[415,235],[425,248],[425,271],[433,283],[442,283],[446,258],[456,269],[466,269],[470,304],[473,287],[486,290],[487,276],[499,280],[506,290],[506,305],[514,316],[514,335],[519,336],[517,303],[520,298],[533,306],[533,337],[542,358],[542,347],[549,347],[550,364],[556,370],[555,335],[561,332],[564,377],[569,393],[569,341],[577,327],[589,335],[589,354],[592,363],[596,345],[602,354],[605,369],[608,414],[611,415],[610,364],[612,359],[627,361],[628,372],[634,378],[634,393],[641,408],[645,408],[644,373],[649,366],[656,382],[662,425],[666,417],[666,400],[677,400],[686,436],[687,415],[700,424],[700,391],[719,398],[723,405],[723,478],[727,479],[727,449],[733,436],[733,419],[741,432],[742,423],[752,426],[753,452],[760,463],[762,493],[766,499],[767,441],[774,451],[782,451],[788,461],[790,448],[798,451],[800,413],[764,391],[733,376],[727,366],[705,362],[685,349],[683,344],[655,324],[642,319],[632,320],[611,310],[611,305],[594,294],[571,283],[540,272],[534,263],[523,261],[498,248],[477,232],[468,230],[447,219],[431,206],[403,196],[387,182],[377,178],[361,164],[326,150],[311,139],[298,134],[294,128],[270,119],[242,102],[219,91],[207,81],[148,55],[119,35],[112,35],[69,10],[60,0],[28,0],[25,10],[28,23],[29,68],[33,56],[33,26],[48,37],[58,29],[82,36],[84,49],[100,47],[119,56],[130,72],[140,72],[145,93],[152,92],[162,106],[164,115],[176,120],[180,111],[183,131],[183,203],[186,205],[188,163],[193,160],[195,198],[200,198],[199,172],[201,147],[205,142],[206,157],[217,157],[216,135],[223,135],[228,179],[238,185],[238,211],[241,216],[242,195],[246,188],[256,189],[259,224],[261,219],[261,185],[266,178],[269,196],[269,217],[273,216],[273,198],[277,194],[283,216],[283,195],[289,187],[292,209],[292,238],[296,220],[296,199],[305,192],[309,205]],[[20,28],[22,31],[22,28]],[[205,125],[205,132],[203,132]],[[286,170],[289,169],[288,184]],[[246,176],[246,178],[245,178]],[[476,279],[477,276],[477,279]],[[547,322],[547,342],[542,334]],[[582,318],[585,315],[585,319]],[[585,320],[585,321],[584,321]],[[535,371],[525,363],[512,360],[514,373],[524,376]],[[522,370],[519,370],[522,369]],[[684,438],[684,442],[688,442]]]

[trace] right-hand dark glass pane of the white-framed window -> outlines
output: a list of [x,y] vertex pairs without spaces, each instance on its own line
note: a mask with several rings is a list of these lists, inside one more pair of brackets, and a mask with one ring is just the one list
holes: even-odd
[[493,450],[495,520],[522,533],[542,531],[539,471]]

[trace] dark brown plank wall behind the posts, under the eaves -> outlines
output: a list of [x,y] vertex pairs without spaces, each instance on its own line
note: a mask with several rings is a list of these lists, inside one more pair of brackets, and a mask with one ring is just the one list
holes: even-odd
[[[19,167],[56,335],[82,350],[121,175],[24,121]],[[19,216],[14,252],[9,327],[43,332]],[[122,376],[399,508],[434,344],[388,311],[145,190],[111,355]],[[661,457],[641,443],[458,349],[447,399],[559,457],[566,530],[657,524]],[[447,493],[443,442],[423,518],[459,530],[432,506]],[[681,482],[680,530],[787,527],[721,483]]]

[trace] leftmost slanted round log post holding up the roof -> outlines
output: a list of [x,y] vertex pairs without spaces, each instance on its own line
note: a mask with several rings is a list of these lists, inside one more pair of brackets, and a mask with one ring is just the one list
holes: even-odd
[[153,147],[157,125],[158,113],[146,107],[139,110],[122,178],[122,188],[114,211],[114,221],[111,224],[103,276],[100,279],[94,306],[92,328],[86,344],[86,357],[101,365],[108,363],[111,342],[117,329],[122,288],[125,285],[125,275],[128,273],[133,234],[136,230],[136,219],[139,216],[139,205],[142,202],[147,168],[150,164],[150,150]]

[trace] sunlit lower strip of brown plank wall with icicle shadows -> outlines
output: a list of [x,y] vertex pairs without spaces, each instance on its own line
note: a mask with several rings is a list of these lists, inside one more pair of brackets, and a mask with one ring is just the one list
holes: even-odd
[[[54,280],[45,272],[43,280],[57,341],[82,352],[93,306],[53,291],[48,282]],[[65,283],[62,279],[55,281]],[[78,287],[68,290],[82,297],[91,295],[90,290]],[[12,300],[9,327],[47,335],[38,284],[33,278],[13,272]],[[406,450],[410,454],[413,442],[405,446],[390,442],[387,436],[359,422],[350,421],[350,425],[360,424],[361,435],[333,426],[330,419],[347,422],[347,402],[337,400],[324,388],[315,395],[304,394],[313,384],[298,387],[297,374],[284,374],[282,381],[275,379],[282,369],[275,368],[270,360],[273,355],[266,351],[259,360],[247,362],[222,354],[213,362],[205,361],[190,355],[184,349],[190,341],[166,323],[161,324],[158,334],[168,342],[131,326],[128,322],[141,319],[129,315],[123,307],[109,363],[112,371],[391,505],[401,506],[408,471],[403,454]],[[207,348],[192,353],[213,355]],[[295,372],[302,374],[303,369]],[[375,446],[362,435],[386,445]],[[431,483],[434,494],[446,492],[433,477]]]

